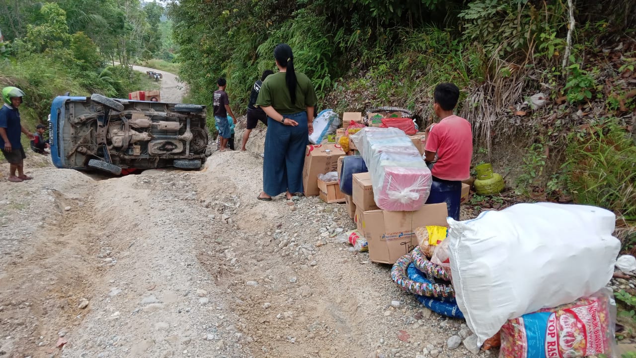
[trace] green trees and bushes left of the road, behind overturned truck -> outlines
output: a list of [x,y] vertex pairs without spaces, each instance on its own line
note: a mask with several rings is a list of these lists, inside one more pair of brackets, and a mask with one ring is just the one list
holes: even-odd
[[[24,90],[20,111],[29,129],[46,122],[52,99],[66,92],[127,98],[132,90],[157,88],[128,66],[132,58],[160,54],[164,11],[157,4],[21,0],[1,6],[0,87]],[[28,140],[22,140],[28,148]]]

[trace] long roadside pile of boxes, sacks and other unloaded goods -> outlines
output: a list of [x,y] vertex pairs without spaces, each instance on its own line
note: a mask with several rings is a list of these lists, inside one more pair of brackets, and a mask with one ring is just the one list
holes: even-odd
[[[500,358],[612,357],[616,307],[605,287],[620,249],[614,213],[534,203],[453,220],[446,203],[425,204],[432,182],[425,135],[405,112],[347,112],[340,120],[326,110],[314,122],[305,195],[345,204],[356,230],[340,242],[392,264],[394,283],[427,308],[466,320],[473,335],[464,345],[473,352],[501,346]],[[490,164],[475,169],[462,203],[473,183],[480,195],[504,189]]]

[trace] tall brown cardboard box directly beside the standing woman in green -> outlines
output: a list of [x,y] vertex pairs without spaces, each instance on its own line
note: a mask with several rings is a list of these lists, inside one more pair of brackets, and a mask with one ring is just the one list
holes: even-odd
[[345,155],[340,145],[308,145],[305,149],[303,187],[305,196],[318,196],[318,175],[338,170],[338,158]]

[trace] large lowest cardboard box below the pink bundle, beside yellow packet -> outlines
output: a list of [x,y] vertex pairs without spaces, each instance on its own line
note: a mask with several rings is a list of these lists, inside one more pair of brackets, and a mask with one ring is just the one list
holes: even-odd
[[369,259],[385,264],[394,264],[417,246],[418,227],[448,226],[446,203],[425,204],[417,211],[357,210],[356,215],[369,242]]

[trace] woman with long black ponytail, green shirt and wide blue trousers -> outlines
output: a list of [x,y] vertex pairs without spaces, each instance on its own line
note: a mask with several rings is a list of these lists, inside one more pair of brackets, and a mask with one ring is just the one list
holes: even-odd
[[[289,45],[274,48],[279,72],[268,76],[258,94],[256,106],[267,114],[263,192],[259,200],[286,193],[303,192],[303,165],[308,136],[314,132],[314,86],[303,73],[294,71],[294,55]],[[291,202],[290,202],[291,203]]]

